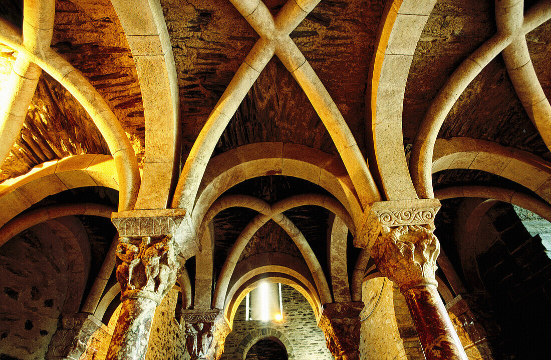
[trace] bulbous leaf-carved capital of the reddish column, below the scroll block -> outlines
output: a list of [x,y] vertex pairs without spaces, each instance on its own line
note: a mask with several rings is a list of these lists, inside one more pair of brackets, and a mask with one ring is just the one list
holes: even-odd
[[439,254],[438,239],[420,225],[398,226],[371,247],[377,269],[399,286],[434,279]]

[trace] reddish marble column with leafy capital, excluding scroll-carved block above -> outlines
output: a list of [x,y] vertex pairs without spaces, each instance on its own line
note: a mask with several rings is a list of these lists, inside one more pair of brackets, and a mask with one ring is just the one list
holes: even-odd
[[434,279],[440,243],[424,226],[393,228],[377,238],[371,256],[377,269],[406,297],[427,360],[467,360]]

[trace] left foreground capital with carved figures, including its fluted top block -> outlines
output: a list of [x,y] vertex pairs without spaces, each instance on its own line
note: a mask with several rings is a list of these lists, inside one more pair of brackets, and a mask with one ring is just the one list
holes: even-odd
[[118,231],[116,274],[121,299],[145,297],[157,304],[174,286],[182,259],[199,251],[183,209],[112,213]]

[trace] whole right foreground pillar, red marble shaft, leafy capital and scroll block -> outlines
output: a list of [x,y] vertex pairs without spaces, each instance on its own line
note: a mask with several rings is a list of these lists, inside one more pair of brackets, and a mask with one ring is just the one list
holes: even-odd
[[367,248],[377,269],[406,298],[427,360],[467,360],[436,287],[440,243],[433,234],[437,199],[385,201],[364,213],[356,246]]

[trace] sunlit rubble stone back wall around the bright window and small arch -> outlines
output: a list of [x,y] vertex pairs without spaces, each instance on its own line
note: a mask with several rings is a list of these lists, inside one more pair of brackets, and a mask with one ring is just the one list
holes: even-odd
[[222,360],[243,359],[258,340],[276,338],[289,359],[331,360],[323,331],[317,327],[314,311],[304,296],[282,284],[283,321],[245,320],[245,300],[235,314],[233,331],[226,337]]

